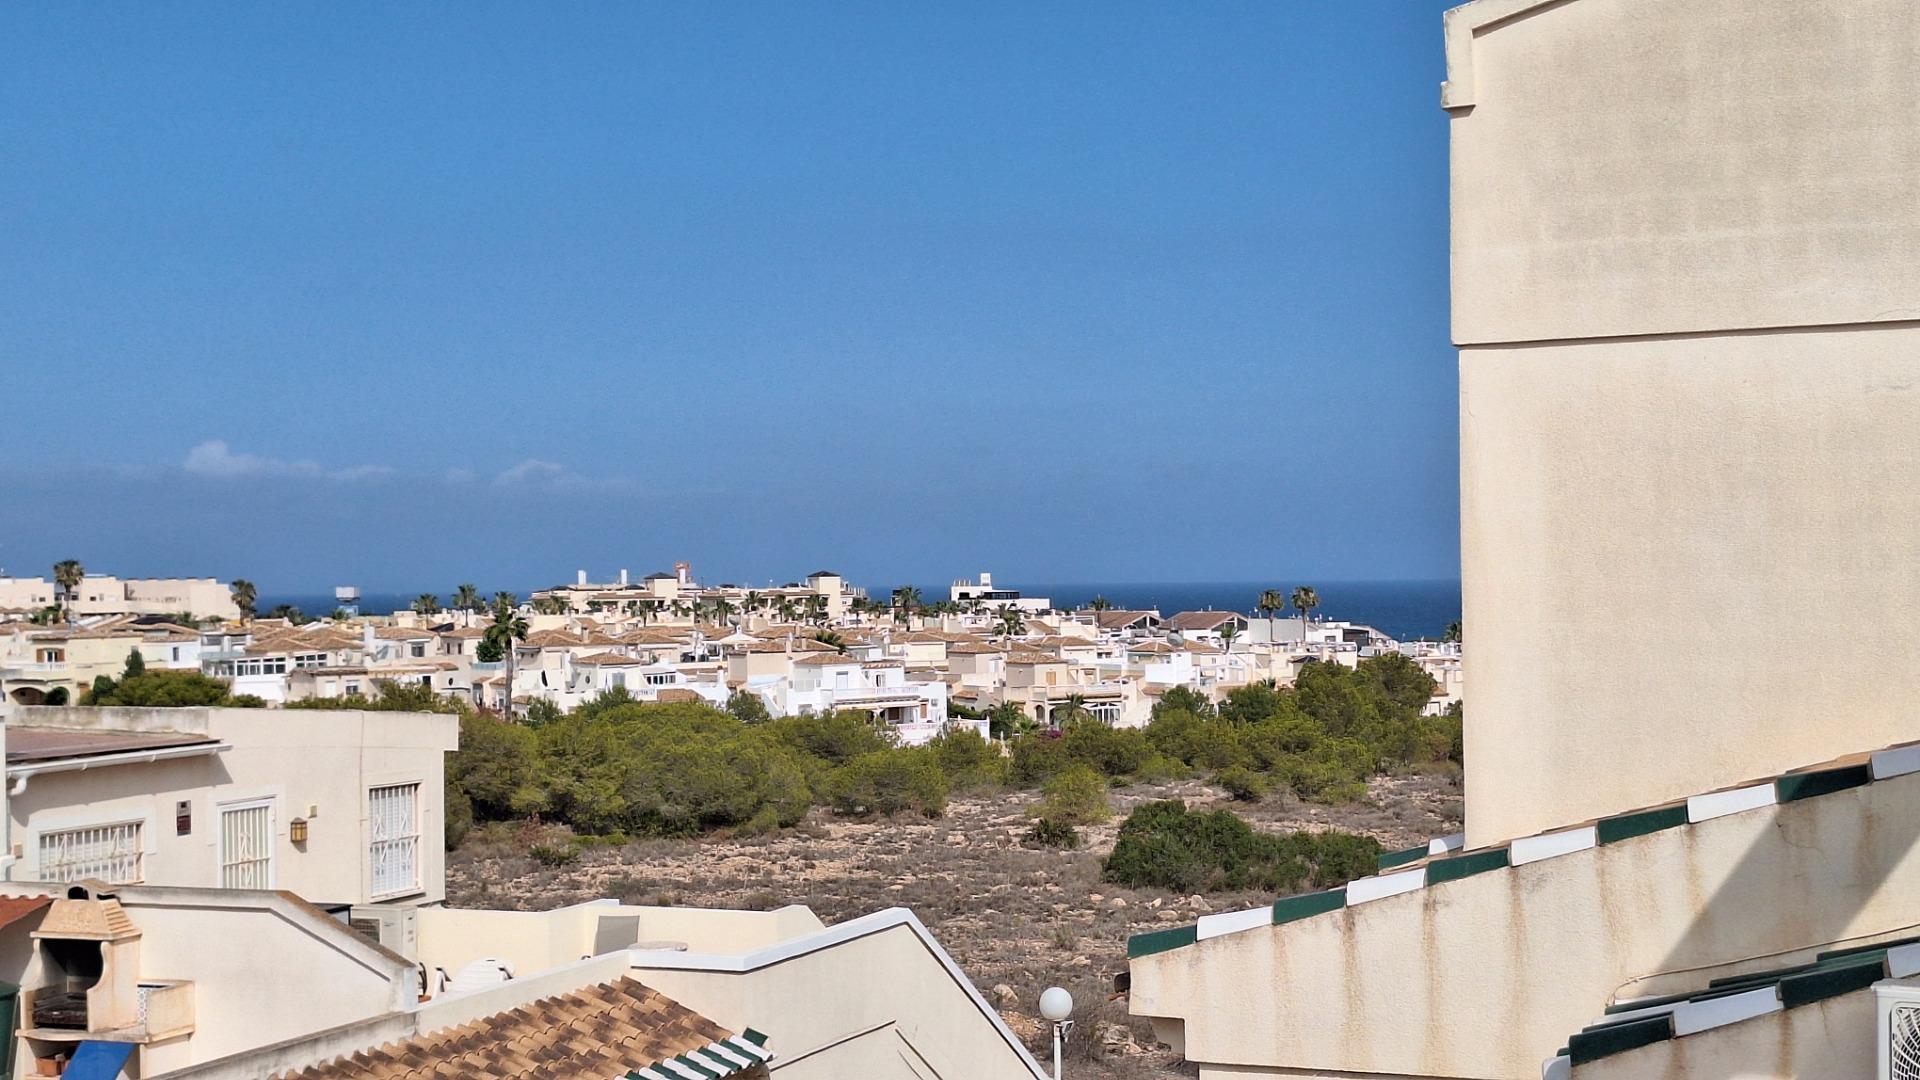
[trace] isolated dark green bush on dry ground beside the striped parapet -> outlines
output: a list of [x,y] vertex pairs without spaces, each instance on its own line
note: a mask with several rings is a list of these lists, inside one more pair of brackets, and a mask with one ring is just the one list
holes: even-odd
[[1137,807],[1119,826],[1102,880],[1175,892],[1332,888],[1373,872],[1380,844],[1346,832],[1256,832],[1231,811],[1179,799]]

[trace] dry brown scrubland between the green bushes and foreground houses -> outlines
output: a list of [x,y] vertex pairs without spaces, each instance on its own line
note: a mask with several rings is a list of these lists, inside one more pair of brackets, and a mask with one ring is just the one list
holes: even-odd
[[447,857],[447,899],[463,907],[547,909],[593,897],[697,907],[780,907],[804,903],[826,922],[881,907],[910,907],[960,961],[981,994],[1037,1053],[1046,1032],[1035,1001],[1062,984],[1079,1003],[1069,1074],[1079,1078],[1181,1076],[1154,1049],[1144,1022],[1112,999],[1112,976],[1127,967],[1127,936],[1192,922],[1273,899],[1219,892],[1177,896],[1100,882],[1100,859],[1114,847],[1125,813],[1148,799],[1231,805],[1256,828],[1346,828],[1386,849],[1455,832],[1461,790],[1455,776],[1380,776],[1363,803],[1323,807],[1298,799],[1231,803],[1208,784],[1135,784],[1112,794],[1116,817],[1091,826],[1077,851],[1023,847],[1027,807],[1039,796],[964,796],[941,819],[843,821],[816,809],[793,830],[751,840],[639,840],[589,847],[568,865],[528,857],[551,840],[538,826],[493,824]]

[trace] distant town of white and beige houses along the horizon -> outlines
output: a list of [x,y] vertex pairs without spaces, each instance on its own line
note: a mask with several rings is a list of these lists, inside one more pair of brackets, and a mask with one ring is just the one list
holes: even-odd
[[1219,701],[1261,680],[1290,684],[1309,661],[1354,667],[1388,651],[1434,678],[1428,711],[1463,694],[1457,640],[1398,642],[1315,619],[1317,596],[1304,586],[1248,596],[1252,615],[1129,611],[1098,598],[1060,611],[987,573],[954,582],[945,600],[916,588],[877,600],[833,571],[745,588],[701,584],[689,563],[676,563],[605,582],[580,571],[528,598],[468,584],[394,615],[342,607],[305,619],[255,613],[246,580],[75,577],[77,567],[61,563],[54,580],[0,578],[0,694],[12,703],[79,703],[96,680],[119,676],[131,653],[150,669],[223,680],[263,705],[420,684],[526,713],[620,692],[770,717],[856,709],[906,746],[954,728],[985,736],[995,709],[1046,724],[1071,707],[1144,726],[1173,688]]

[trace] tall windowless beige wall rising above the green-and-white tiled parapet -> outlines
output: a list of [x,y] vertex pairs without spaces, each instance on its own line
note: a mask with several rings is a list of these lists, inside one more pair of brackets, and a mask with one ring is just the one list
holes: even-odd
[[1448,61],[1469,842],[1908,734],[1920,6],[1478,0]]

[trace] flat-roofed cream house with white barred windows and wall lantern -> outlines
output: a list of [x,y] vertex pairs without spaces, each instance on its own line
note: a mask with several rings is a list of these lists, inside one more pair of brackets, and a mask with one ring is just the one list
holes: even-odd
[[4,876],[445,899],[440,713],[13,709]]

